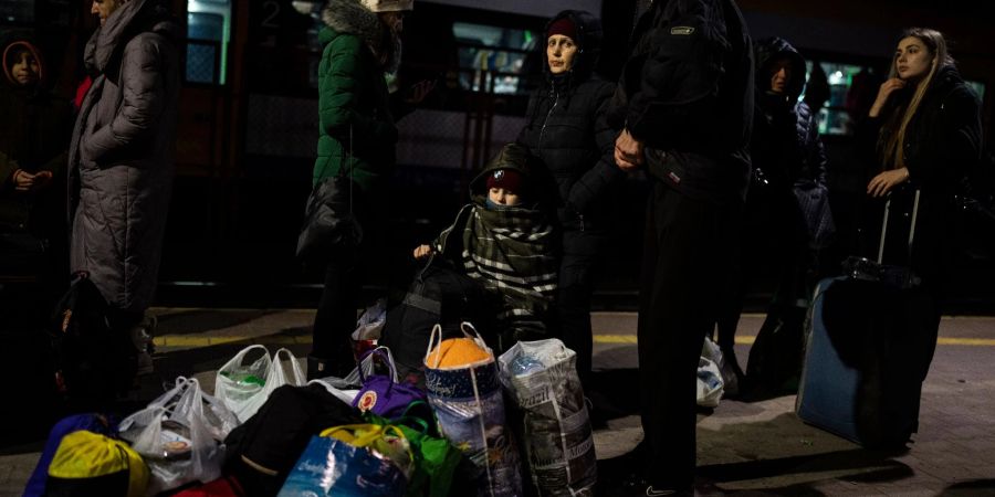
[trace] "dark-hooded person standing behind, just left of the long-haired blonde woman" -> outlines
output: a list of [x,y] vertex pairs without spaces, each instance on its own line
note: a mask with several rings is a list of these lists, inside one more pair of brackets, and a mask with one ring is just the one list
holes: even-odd
[[[817,253],[832,232],[827,160],[818,121],[798,99],[805,86],[805,59],[776,36],[757,40],[753,51],[753,179],[741,229],[739,282],[719,318],[719,347],[741,378],[733,342],[743,297],[761,277],[758,272],[768,271],[774,295],[750,350],[747,377],[758,390],[790,390],[802,368],[802,328]],[[727,384],[726,392],[735,393],[736,387]]]

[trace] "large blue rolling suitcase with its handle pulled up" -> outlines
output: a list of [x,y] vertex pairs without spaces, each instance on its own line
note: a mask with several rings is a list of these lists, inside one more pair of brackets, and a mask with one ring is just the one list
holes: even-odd
[[[936,338],[929,326],[915,326],[932,305],[915,275],[908,267],[880,264],[890,204],[878,263],[851,257],[845,276],[816,287],[795,401],[804,422],[872,448],[903,446],[917,431],[922,381]],[[917,191],[910,251],[918,207]]]

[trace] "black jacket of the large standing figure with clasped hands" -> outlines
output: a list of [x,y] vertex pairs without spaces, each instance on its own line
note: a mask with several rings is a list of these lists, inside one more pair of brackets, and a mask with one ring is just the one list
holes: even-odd
[[647,169],[683,194],[746,194],[753,51],[732,0],[656,1],[639,17],[609,121],[646,145]]

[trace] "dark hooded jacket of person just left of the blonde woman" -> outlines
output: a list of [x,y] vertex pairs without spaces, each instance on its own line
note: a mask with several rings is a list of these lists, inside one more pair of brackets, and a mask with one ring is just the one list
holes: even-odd
[[[756,41],[754,59],[757,67],[751,142],[754,177],[763,177],[772,187],[787,188],[799,181],[826,186],[827,159],[818,123],[808,105],[798,101],[805,85],[805,60],[790,43],[776,36]],[[792,77],[783,94],[773,94],[771,66],[781,59],[790,62]]]

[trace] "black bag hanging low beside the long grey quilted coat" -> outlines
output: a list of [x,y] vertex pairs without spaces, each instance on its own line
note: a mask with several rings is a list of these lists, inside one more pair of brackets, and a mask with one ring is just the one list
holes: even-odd
[[107,320],[108,305],[85,272],[74,275],[50,326],[55,381],[70,404],[105,406],[126,393],[137,371],[137,349]]

